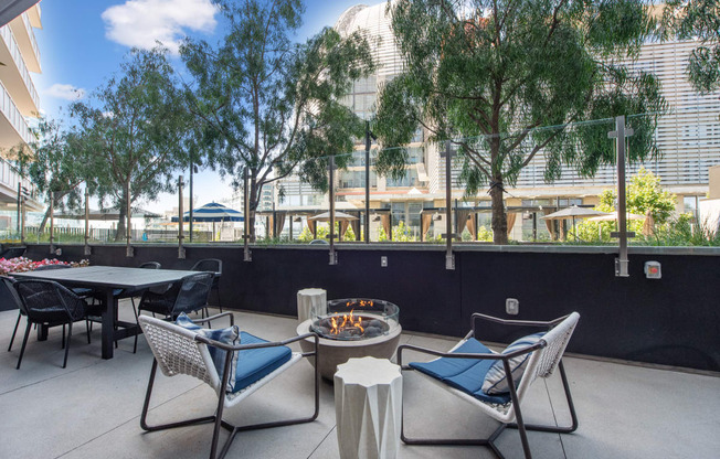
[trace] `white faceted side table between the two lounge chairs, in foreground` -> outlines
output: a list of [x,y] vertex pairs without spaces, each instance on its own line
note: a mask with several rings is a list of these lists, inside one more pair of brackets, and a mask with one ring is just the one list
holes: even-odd
[[392,459],[400,448],[400,366],[350,359],[335,373],[335,415],[341,459]]

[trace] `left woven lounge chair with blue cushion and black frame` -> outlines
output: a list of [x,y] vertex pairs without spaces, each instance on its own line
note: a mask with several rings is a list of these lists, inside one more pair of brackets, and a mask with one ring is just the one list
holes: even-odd
[[[220,313],[203,320],[195,320],[195,323],[209,322],[222,317],[229,317],[233,325],[233,316],[230,312]],[[157,431],[174,427],[192,426],[197,424],[213,423],[213,435],[210,447],[210,459],[223,458],[237,433],[244,430],[254,430],[269,427],[288,426],[293,424],[309,423],[317,418],[319,412],[319,373],[315,367],[315,412],[310,417],[276,420],[255,425],[234,426],[223,420],[223,409],[237,405],[247,398],[255,391],[268,383],[274,377],[282,374],[285,370],[299,362],[304,356],[315,356],[317,359],[318,338],[316,334],[307,333],[280,342],[267,342],[248,333],[242,332],[241,344],[229,345],[219,341],[211,340],[194,330],[189,330],[159,320],[149,316],[139,317],[142,332],[155,354],[152,369],[150,370],[150,381],[142,405],[142,415],[140,426],[147,431]],[[292,352],[287,344],[305,339],[315,340],[315,350],[308,353]],[[213,349],[214,348],[214,349]],[[222,376],[219,375],[216,365],[213,361],[211,351],[225,351],[222,363]],[[237,353],[237,369],[234,374],[231,371],[233,356]],[[210,385],[218,394],[218,407],[214,415],[180,420],[170,424],[150,426],[147,423],[148,407],[150,405],[150,395],[155,375],[160,366],[160,371],[166,376],[176,376],[184,374],[197,377],[198,380]],[[232,389],[229,383],[234,383]],[[218,440],[220,429],[224,428],[230,431],[220,452],[218,452]]]

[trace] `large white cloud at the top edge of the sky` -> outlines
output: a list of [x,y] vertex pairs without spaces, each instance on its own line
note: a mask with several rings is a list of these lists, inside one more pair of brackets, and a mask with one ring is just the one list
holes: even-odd
[[105,10],[105,36],[126,46],[149,50],[160,41],[177,53],[184,30],[212,32],[216,8],[210,0],[127,0]]

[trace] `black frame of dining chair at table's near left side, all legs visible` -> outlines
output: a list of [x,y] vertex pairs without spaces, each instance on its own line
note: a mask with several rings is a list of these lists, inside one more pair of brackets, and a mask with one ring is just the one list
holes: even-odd
[[[33,318],[34,312],[31,313],[30,310],[31,308],[27,305],[25,299],[22,296],[22,292],[20,291],[20,286],[23,284],[43,284],[52,287],[55,297],[59,300],[59,305],[62,306],[65,309],[65,313],[67,314],[67,320],[57,320],[57,321],[47,321],[47,320],[38,320]],[[7,284],[6,284],[7,285]],[[70,290],[68,288],[63,287],[62,285],[52,281],[52,280],[35,280],[35,279],[28,279],[28,280],[14,280],[12,282],[12,287],[14,288],[15,292],[18,293],[18,298],[20,299],[20,303],[18,305],[20,309],[20,313],[18,314],[18,321],[15,322],[15,331],[12,333],[12,339],[10,340],[10,346],[8,348],[8,351],[12,348],[12,341],[15,338],[15,332],[18,331],[18,324],[20,323],[20,316],[25,316],[28,319],[28,327],[25,328],[25,334],[22,340],[22,348],[20,349],[20,356],[18,357],[18,366],[15,366],[15,370],[20,370],[20,364],[22,363],[22,356],[25,353],[25,346],[28,344],[28,338],[30,337],[30,329],[32,328],[31,325],[34,324],[40,324],[40,325],[46,325],[46,327],[56,327],[56,325],[63,325],[63,338],[62,338],[62,348],[65,349],[65,357],[63,360],[63,369],[67,366],[67,354],[70,352],[70,342],[71,338],[73,335],[73,322],[78,321],[78,320],[85,320],[85,328],[86,328],[86,334],[87,334],[87,343],[91,343],[91,335],[89,335],[89,324],[87,321],[87,305],[83,300],[82,297],[77,296],[74,291]],[[61,292],[64,292],[65,296],[70,296],[71,298],[74,298],[76,301],[82,301],[85,303],[85,308],[83,310],[83,316],[82,317],[73,317],[73,312],[71,311],[71,308],[65,302],[65,299],[63,298],[63,295]],[[65,325],[67,325],[67,340],[65,340]]]

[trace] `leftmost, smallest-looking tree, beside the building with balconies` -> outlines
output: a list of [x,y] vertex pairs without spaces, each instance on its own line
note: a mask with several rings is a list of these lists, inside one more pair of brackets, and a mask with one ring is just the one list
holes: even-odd
[[[63,130],[56,120],[41,118],[38,127],[33,129],[35,141],[31,149],[19,149],[18,162],[45,195],[47,202],[53,201],[55,207],[68,206],[77,209],[81,203],[78,186],[91,173],[87,169],[89,161],[82,149],[77,148],[77,136]],[[50,217],[51,206],[40,224],[42,232]]]

